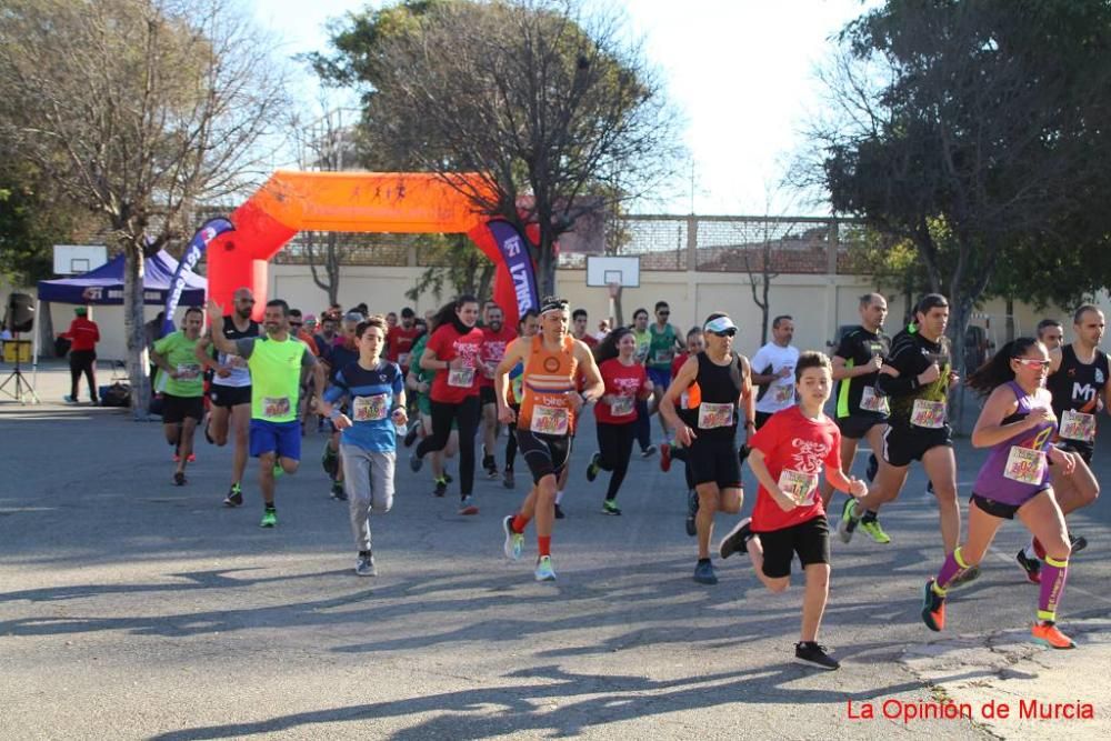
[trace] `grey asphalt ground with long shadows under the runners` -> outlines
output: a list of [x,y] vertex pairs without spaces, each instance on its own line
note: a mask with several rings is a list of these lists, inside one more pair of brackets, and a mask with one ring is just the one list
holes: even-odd
[[[1105,498],[1072,520],[1091,545],[1073,560],[1061,620],[1081,628],[1081,649],[1050,655],[1024,640],[1037,591],[1012,561],[1025,541],[1018,524],[951,600],[947,632],[921,624],[921,584],[942,553],[913,469],[883,513],[891,545],[834,543],[821,642],[843,665],[818,672],[792,662],[799,589],[768,593],[743,557],[715,564],[715,587],[691,580],[678,467],[664,474],[654,459],[634,460],[624,515],[600,513],[605,474],[583,478],[592,423],[554,532],[559,581],[532,580],[531,529],[521,562],[501,554],[500,518],[524,494],[522,463],[516,491],[476,484],[472,518],[456,514],[456,484],[436,499],[427,467],[399,465],[394,509],[372,520],[380,575],[360,579],[347,507],[329,499],[318,462],[322,435],[306,439],[302,470],[279,481],[279,528],[261,530],[253,467],[247,505],[226,510],[229,449],[200,442],[189,484],[173,487],[159,424],[62,405],[64,383],[60,370],[40,372],[47,403],[0,403],[2,738],[1111,732]],[[967,440],[957,450],[964,499],[982,454]],[[731,523],[720,518],[719,533]],[[991,691],[1040,699],[1062,687],[1097,718],[1015,727],[981,717]],[[882,717],[944,699],[969,699],[977,717]],[[864,705],[875,719],[859,718]]]

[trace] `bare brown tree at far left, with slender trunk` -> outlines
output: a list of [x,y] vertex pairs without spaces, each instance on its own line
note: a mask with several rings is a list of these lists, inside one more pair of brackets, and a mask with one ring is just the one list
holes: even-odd
[[0,137],[99,214],[126,254],[131,403],[144,417],[144,259],[194,207],[258,180],[284,107],[280,64],[222,0],[8,0]]

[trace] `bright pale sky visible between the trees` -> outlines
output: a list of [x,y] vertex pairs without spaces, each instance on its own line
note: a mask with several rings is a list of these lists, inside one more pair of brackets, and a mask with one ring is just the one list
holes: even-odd
[[[329,19],[382,2],[253,0],[259,22],[294,54],[324,49]],[[812,212],[790,192],[769,194],[821,104],[815,67],[830,37],[877,0],[624,0],[649,61],[687,121],[687,171],[653,210],[702,214]],[[311,101],[314,87],[302,80]],[[342,101],[340,101],[342,102]],[[693,189],[691,187],[693,166]]]

